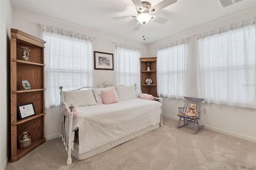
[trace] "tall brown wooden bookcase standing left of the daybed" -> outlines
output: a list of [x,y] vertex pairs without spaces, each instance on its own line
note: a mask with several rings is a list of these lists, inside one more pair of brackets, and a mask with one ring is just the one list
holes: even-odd
[[[45,142],[44,137],[44,43],[34,36],[11,28],[11,161],[14,162]],[[22,61],[22,47],[28,47],[30,61]],[[31,89],[22,87],[28,80]],[[33,103],[36,115],[19,120],[17,106]],[[19,148],[19,136],[31,134],[31,145]]]

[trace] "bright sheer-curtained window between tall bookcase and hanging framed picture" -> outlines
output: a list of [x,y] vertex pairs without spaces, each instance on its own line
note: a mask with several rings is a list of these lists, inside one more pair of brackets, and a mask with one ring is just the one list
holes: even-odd
[[64,91],[92,86],[92,43],[52,32],[43,32],[46,41],[45,107],[60,105],[60,85]]

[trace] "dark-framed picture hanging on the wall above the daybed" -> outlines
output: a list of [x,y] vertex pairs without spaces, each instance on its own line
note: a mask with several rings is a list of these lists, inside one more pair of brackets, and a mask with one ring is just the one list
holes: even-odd
[[113,54],[94,51],[94,69],[114,70]]

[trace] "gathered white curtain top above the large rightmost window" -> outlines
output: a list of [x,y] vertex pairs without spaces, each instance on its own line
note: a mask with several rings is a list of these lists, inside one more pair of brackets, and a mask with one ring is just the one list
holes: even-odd
[[243,26],[248,26],[248,25],[252,25],[255,24],[256,21],[256,17],[254,16],[253,18],[249,18],[246,20],[242,20],[240,22],[235,22],[226,26],[222,26],[213,30],[209,30],[207,32],[203,32],[201,34],[197,34],[197,38],[204,38],[207,36],[212,36],[212,35],[216,35],[219,33],[223,33],[223,32],[228,32],[229,30],[234,30],[234,29],[238,29],[238,28],[242,28]]

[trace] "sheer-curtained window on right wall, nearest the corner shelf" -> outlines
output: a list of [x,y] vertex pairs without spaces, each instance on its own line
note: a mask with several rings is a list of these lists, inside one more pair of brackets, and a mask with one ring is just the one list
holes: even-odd
[[182,43],[157,51],[157,89],[163,97],[186,96],[187,45]]

